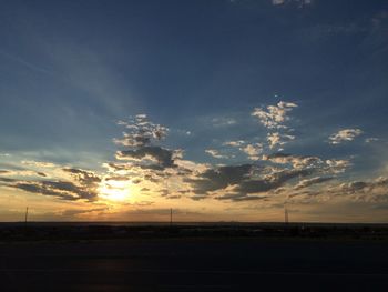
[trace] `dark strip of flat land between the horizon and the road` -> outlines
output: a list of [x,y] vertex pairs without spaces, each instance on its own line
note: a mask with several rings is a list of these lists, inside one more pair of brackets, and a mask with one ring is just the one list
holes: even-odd
[[60,241],[161,238],[258,238],[388,241],[388,224],[207,222],[0,223],[0,240]]

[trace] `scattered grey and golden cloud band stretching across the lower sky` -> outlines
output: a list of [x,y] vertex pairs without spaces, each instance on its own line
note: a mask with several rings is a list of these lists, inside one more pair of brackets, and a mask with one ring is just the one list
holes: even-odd
[[[257,142],[259,137],[236,139],[221,143],[225,149],[205,150],[212,158],[226,161],[235,158],[229,153],[236,150],[247,157],[247,163],[228,161],[226,164],[211,164],[187,160],[184,150],[163,144],[170,131],[166,127],[149,121],[145,114],[139,114],[119,122],[124,127],[124,132],[122,138],[113,141],[120,149],[115,152],[114,161],[102,164],[104,172],[22,160],[19,165],[1,164],[0,187],[61,201],[102,204],[89,211],[69,209],[62,212],[62,217],[110,212],[103,200],[126,202],[127,195],[134,192],[143,197],[123,205],[141,207],[142,202],[157,205],[155,202],[161,200],[172,202],[188,199],[193,202],[213,200],[241,203],[247,208],[251,204],[282,204],[286,201],[306,204],[340,195],[354,201],[386,200],[387,179],[343,181],[340,174],[353,167],[348,159],[324,159],[279,151],[279,147],[295,139],[293,129],[286,123],[290,120],[288,113],[296,107],[295,103],[280,101],[276,105],[255,109],[253,117],[268,130],[263,142]],[[330,141],[351,141],[359,134],[359,129],[345,129],[333,134]],[[369,140],[375,141],[374,138]]]

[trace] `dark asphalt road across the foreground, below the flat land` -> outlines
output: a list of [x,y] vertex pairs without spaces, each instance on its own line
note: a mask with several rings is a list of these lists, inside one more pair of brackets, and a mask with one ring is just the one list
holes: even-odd
[[388,291],[388,245],[164,239],[0,244],[0,291]]

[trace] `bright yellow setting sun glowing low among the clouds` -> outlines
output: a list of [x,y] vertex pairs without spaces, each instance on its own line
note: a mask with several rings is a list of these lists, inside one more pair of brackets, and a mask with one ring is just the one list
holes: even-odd
[[99,197],[114,202],[127,201],[131,198],[131,182],[104,180],[99,188]]

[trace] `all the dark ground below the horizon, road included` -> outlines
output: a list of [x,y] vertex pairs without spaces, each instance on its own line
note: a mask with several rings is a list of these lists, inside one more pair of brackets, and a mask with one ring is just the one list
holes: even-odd
[[388,291],[386,225],[0,230],[0,291]]

